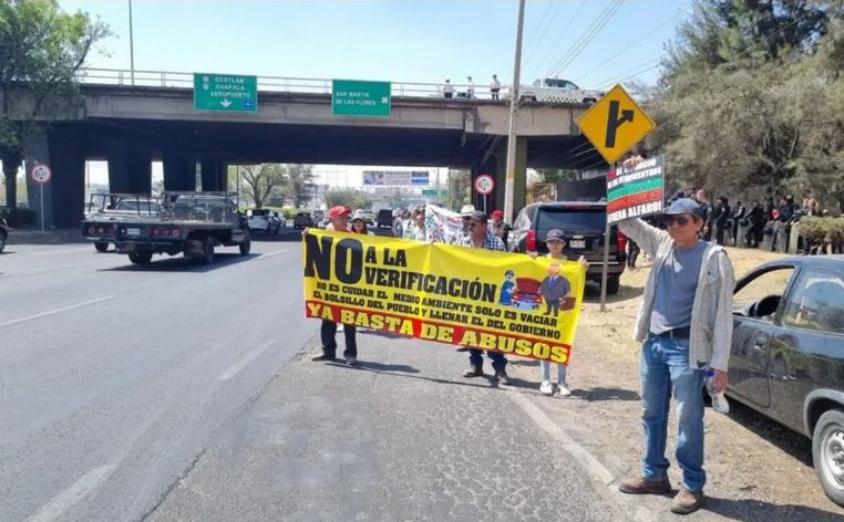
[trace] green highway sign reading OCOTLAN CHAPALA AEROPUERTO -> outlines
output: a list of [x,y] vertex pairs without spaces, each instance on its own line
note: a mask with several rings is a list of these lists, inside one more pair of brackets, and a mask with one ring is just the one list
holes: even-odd
[[194,108],[257,113],[258,77],[194,73]]

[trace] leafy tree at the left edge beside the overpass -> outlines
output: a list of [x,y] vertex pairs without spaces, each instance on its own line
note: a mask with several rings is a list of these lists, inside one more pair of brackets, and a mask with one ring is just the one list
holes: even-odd
[[55,0],[0,1],[0,160],[10,209],[28,137],[76,100],[79,71],[110,34],[88,13],[62,12]]

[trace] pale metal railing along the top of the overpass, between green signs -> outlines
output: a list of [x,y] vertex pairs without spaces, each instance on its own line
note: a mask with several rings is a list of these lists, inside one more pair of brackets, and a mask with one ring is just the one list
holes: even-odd
[[[128,71],[124,69],[86,69],[78,73],[83,84],[125,85],[145,87],[193,88],[194,73],[174,71]],[[453,84],[455,93],[464,93],[469,85]],[[258,91],[277,93],[331,94],[331,80],[313,77],[258,76]],[[442,85],[436,83],[392,82],[393,96],[442,97]],[[475,86],[475,97],[490,98],[488,88]]]

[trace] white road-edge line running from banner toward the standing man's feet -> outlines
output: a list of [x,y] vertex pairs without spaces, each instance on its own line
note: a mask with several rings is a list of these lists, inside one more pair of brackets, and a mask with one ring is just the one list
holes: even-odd
[[516,406],[518,406],[522,411],[531,417],[531,420],[533,420],[536,426],[554,437],[554,439],[560,443],[563,450],[570,455],[587,473],[599,480],[604,486],[607,486],[607,492],[613,500],[618,504],[629,508],[628,513],[630,514],[630,520],[635,520],[636,522],[658,522],[660,520],[660,518],[657,516],[657,513],[641,505],[638,501],[641,499],[640,495],[629,495],[618,491],[618,488],[614,483],[616,477],[613,472],[600,463],[600,461],[586,448],[577,443],[577,441],[575,441],[575,439],[573,439],[563,428],[557,426],[557,424],[529,398],[525,397],[523,394],[507,395],[514,403],[516,403]]

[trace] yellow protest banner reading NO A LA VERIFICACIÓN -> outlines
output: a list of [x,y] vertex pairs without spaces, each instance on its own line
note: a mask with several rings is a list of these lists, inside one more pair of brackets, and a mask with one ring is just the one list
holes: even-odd
[[310,229],[305,313],[567,364],[586,271],[575,261]]

